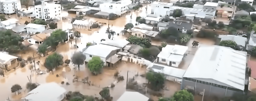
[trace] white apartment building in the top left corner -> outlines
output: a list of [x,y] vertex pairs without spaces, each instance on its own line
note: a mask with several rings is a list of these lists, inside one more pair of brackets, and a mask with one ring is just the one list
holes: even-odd
[[21,1],[19,0],[1,0],[1,13],[5,14],[13,14],[16,13],[17,10],[21,10]]

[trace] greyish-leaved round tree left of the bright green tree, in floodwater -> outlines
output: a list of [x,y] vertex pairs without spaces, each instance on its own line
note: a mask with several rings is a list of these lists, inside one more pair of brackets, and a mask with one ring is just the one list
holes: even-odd
[[78,66],[78,69],[80,69],[80,65],[84,64],[85,59],[86,57],[82,52],[75,52],[71,58],[71,61],[73,64]]

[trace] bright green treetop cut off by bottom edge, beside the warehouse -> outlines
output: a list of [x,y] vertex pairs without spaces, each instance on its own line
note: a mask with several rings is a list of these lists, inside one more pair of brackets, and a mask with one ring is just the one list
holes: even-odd
[[172,99],[175,101],[194,101],[194,96],[187,90],[180,90],[174,93]]

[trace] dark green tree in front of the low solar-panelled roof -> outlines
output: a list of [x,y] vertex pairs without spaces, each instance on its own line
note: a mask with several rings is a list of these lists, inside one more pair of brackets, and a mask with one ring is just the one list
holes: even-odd
[[152,89],[160,90],[160,88],[163,87],[166,78],[161,73],[150,71],[146,73],[146,79],[149,81]]

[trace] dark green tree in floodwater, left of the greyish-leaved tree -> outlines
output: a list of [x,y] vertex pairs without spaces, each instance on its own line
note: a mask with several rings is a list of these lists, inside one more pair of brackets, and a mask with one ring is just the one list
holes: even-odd
[[53,74],[53,69],[57,68],[58,66],[64,63],[62,59],[63,59],[62,55],[54,52],[53,54],[49,55],[45,59],[45,67],[49,70],[52,70],[52,74]]

